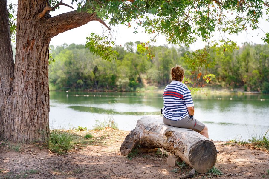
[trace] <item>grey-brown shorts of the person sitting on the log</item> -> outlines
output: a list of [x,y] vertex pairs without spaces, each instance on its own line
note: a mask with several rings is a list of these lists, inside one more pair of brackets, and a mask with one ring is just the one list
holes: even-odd
[[204,129],[204,124],[202,122],[190,118],[189,116],[180,120],[170,120],[163,116],[163,123],[168,126],[192,129],[196,132],[201,132]]

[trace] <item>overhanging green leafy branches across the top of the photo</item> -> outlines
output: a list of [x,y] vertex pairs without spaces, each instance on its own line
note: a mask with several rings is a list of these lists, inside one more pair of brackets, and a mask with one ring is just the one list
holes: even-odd
[[[210,46],[225,48],[228,51],[236,49],[236,42],[224,36],[220,41],[210,41],[213,32],[219,31],[222,37],[224,34],[256,30],[259,29],[258,23],[262,15],[264,13],[269,15],[269,3],[262,0],[72,0],[73,3],[78,6],[77,12],[96,15],[95,20],[104,24],[108,30],[117,24],[131,27],[133,21],[136,23],[136,26],[132,27],[134,33],[138,33],[138,27],[143,27],[143,31],[152,38],[150,41],[142,42],[138,49],[141,53],[147,53],[149,58],[154,56],[151,54],[149,44],[155,42],[159,34],[165,36],[168,43],[186,47],[197,39],[201,39],[204,41],[204,49],[186,56],[186,58],[192,58],[192,60],[187,60],[187,64],[195,67],[194,70],[207,67]],[[60,8],[59,5],[68,6],[62,1],[49,0],[48,10],[45,8],[43,12],[57,10]],[[12,5],[9,5],[9,9],[10,30],[11,34],[14,34],[16,26],[12,19],[15,18],[15,11]],[[262,40],[269,44],[269,32],[264,33]],[[114,41],[111,41],[111,33],[108,33],[108,36],[104,34],[104,32],[85,34],[89,36],[86,48],[104,60],[111,61],[111,59],[116,59],[118,54],[112,50]]]

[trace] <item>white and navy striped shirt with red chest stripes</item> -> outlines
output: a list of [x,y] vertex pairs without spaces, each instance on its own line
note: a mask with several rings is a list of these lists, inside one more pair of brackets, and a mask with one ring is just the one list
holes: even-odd
[[180,120],[189,115],[187,107],[194,106],[189,88],[182,82],[172,80],[163,92],[163,116]]

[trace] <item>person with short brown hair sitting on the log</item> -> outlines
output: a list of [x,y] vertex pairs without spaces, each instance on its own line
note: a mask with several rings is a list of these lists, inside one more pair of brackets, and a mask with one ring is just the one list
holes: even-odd
[[189,88],[182,83],[184,68],[171,68],[172,82],[163,92],[163,123],[169,126],[189,128],[208,138],[208,128],[193,118],[194,104]]

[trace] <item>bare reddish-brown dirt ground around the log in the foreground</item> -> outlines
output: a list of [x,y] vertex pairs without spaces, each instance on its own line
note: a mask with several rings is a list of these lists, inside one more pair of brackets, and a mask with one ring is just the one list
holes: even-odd
[[[109,133],[109,135],[107,135]],[[191,168],[171,172],[167,155],[138,154],[132,160],[120,154],[120,145],[129,131],[92,131],[102,142],[74,148],[59,155],[36,144],[22,145],[19,152],[0,147],[0,178],[179,178]],[[104,135],[106,134],[106,135]],[[104,137],[105,136],[105,137]],[[269,178],[269,153],[247,145],[213,141],[219,150],[216,167],[227,175],[195,174],[193,178]],[[225,145],[226,144],[226,145]]]

